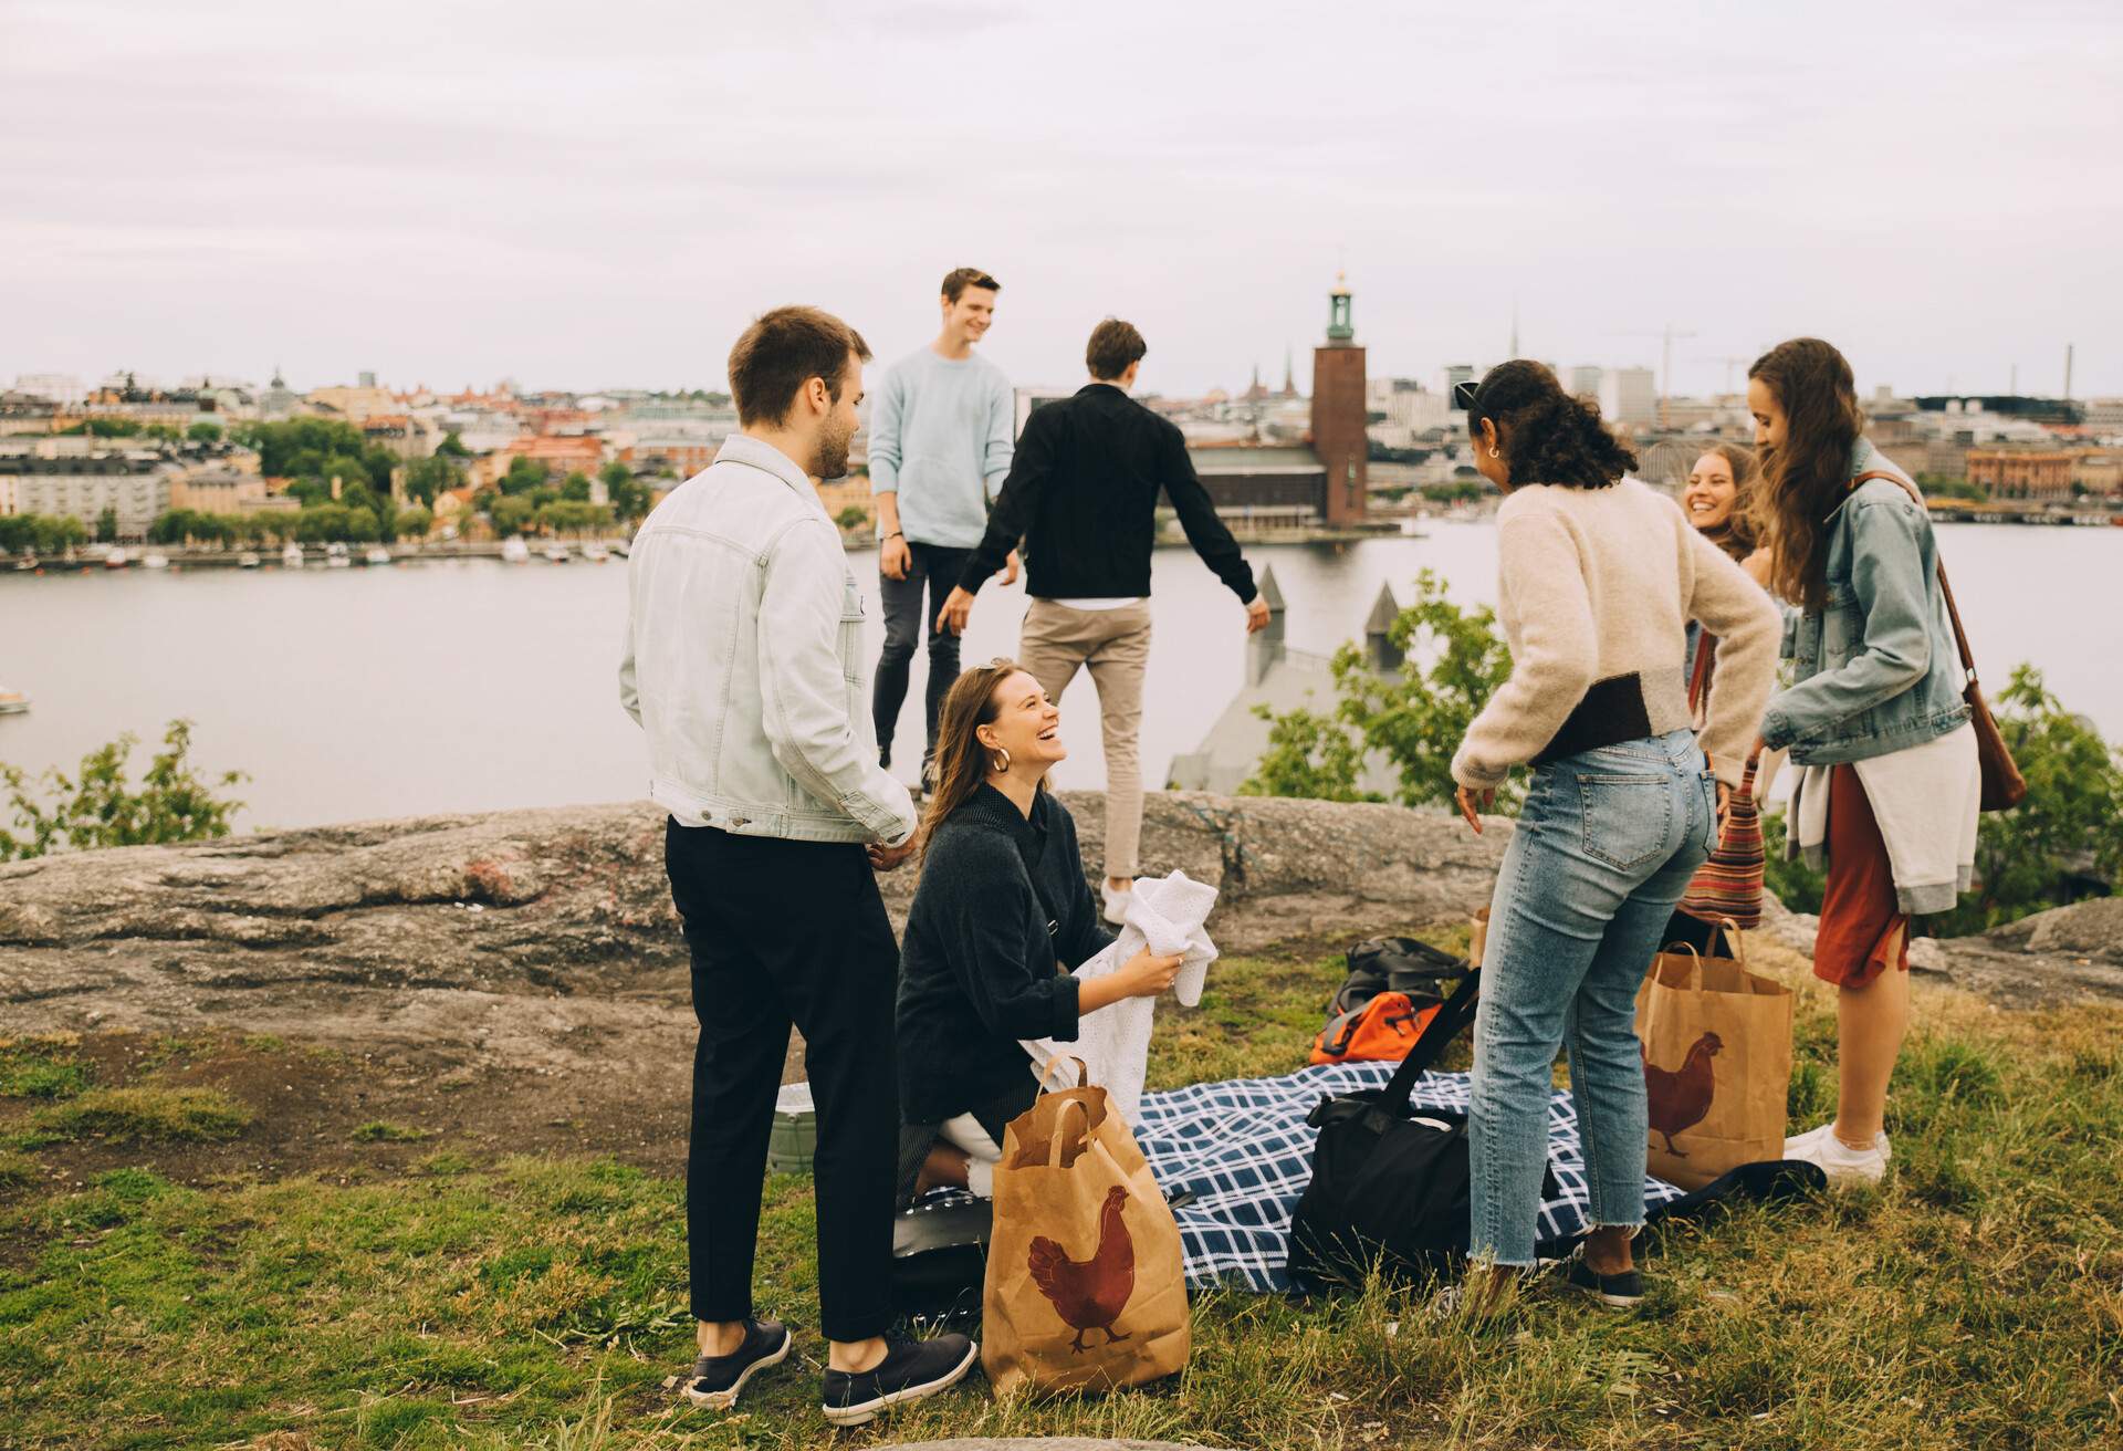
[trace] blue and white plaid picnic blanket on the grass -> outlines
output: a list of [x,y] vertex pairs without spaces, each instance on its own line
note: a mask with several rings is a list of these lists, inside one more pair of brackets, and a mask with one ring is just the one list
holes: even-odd
[[[1142,1096],[1136,1143],[1168,1194],[1193,1192],[1174,1217],[1187,1253],[1189,1285],[1240,1283],[1289,1290],[1291,1211],[1312,1179],[1318,1130],[1306,1115],[1321,1096],[1384,1088],[1391,1062],[1301,1069],[1274,1079],[1193,1083]],[[1425,1073],[1416,1107],[1467,1111],[1465,1073]],[[1590,1196],[1577,1147],[1577,1109],[1569,1094],[1548,1100],[1548,1160],[1556,1198],[1541,1205],[1541,1241],[1584,1232]],[[1681,1196],[1664,1179],[1643,1181],[1645,1205]]]

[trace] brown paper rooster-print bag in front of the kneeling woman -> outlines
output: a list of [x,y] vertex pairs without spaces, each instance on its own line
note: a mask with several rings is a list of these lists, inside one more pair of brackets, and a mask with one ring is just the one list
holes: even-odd
[[1180,1228],[1095,1086],[1040,1098],[1002,1134],[981,1364],[996,1392],[1110,1389],[1187,1364]]

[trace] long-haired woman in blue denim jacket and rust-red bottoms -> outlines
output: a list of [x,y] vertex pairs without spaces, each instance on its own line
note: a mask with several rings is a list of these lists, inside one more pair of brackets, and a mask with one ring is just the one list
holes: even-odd
[[1813,973],[1839,988],[1836,1117],[1783,1154],[1830,1183],[1877,1183],[1909,1028],[1909,918],[1951,909],[1974,863],[1974,727],[1932,518],[1862,438],[1851,365],[1819,338],[1781,342],[1747,370],[1747,408],[1775,591],[1798,601],[1783,627],[1796,680],[1771,699],[1762,741],[1800,767],[1788,850],[1826,856]]

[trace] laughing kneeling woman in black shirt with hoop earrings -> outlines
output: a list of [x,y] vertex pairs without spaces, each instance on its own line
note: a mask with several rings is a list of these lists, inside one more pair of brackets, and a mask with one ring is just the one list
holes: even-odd
[[1062,712],[1015,661],[968,669],[936,722],[921,886],[900,943],[900,1200],[991,1192],[1002,1128],[1038,1081],[1021,1039],[1072,1041],[1085,1013],[1157,996],[1180,958],[1136,954],[1078,984],[1112,937],[1083,875],[1076,822],[1047,790],[1068,756]]

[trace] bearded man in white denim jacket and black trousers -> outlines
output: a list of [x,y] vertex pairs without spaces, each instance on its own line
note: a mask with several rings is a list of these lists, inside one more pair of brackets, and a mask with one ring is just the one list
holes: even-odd
[[860,1426],[953,1385],[966,1336],[885,1345],[898,1071],[898,943],[875,871],[911,852],[915,809],[877,761],[862,591],[817,480],[847,472],[862,336],[777,308],[730,351],[741,433],[679,484],[628,563],[620,703],[671,812],[664,869],[692,950],[686,1232],[696,1404],[726,1409],[790,1332],[752,1315],[775,1090],[802,1030],[817,1107],[824,1406]]

